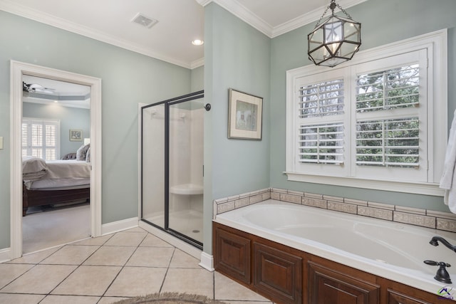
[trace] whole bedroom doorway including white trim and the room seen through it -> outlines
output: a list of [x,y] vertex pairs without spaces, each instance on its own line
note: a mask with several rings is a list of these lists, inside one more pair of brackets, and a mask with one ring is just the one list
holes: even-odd
[[100,78],[11,61],[10,219],[11,259],[101,235]]

